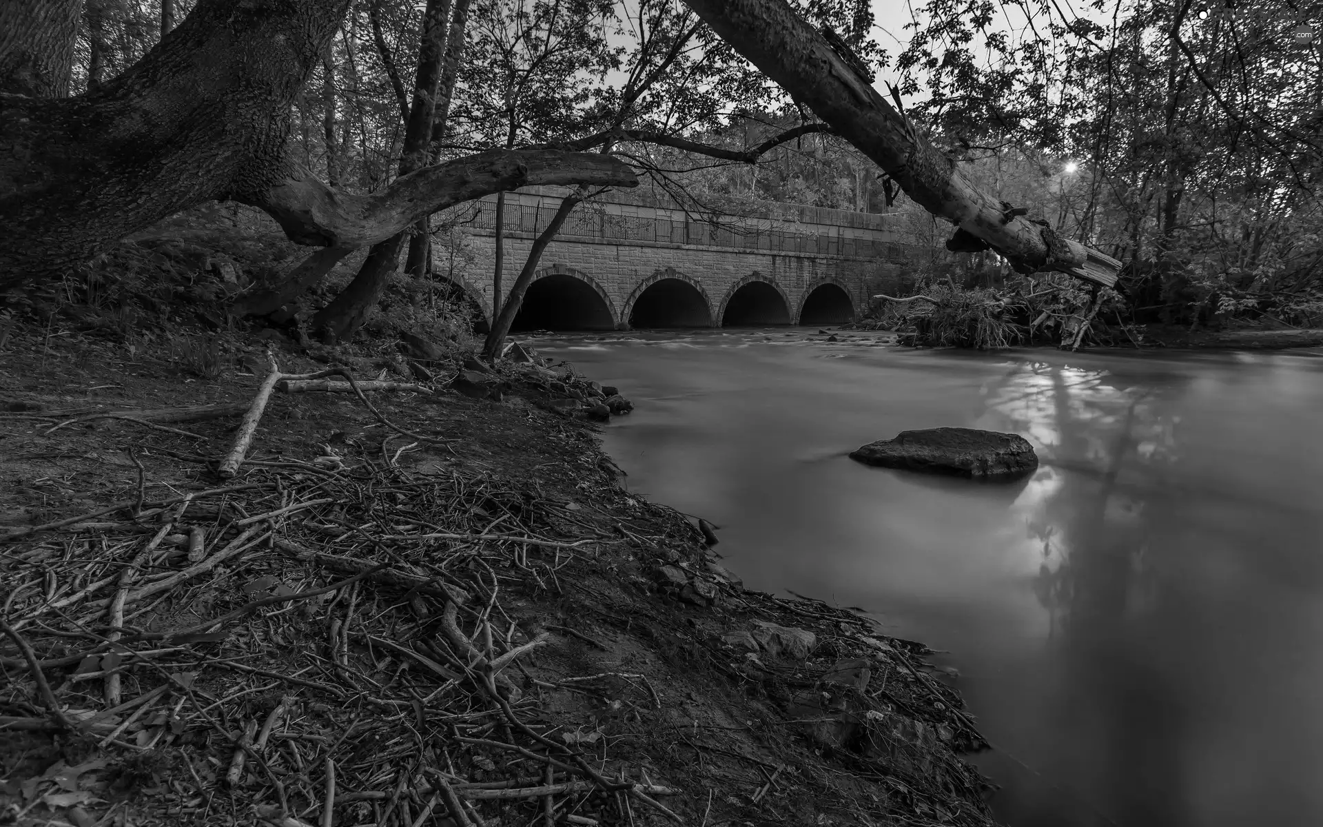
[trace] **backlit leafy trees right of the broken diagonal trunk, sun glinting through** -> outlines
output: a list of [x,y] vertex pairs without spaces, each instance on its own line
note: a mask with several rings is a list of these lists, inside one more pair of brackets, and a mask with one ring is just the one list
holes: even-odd
[[1193,8],[929,0],[897,67],[995,195],[1127,263],[1138,319],[1216,324],[1320,286],[1323,50],[1290,30],[1323,20]]

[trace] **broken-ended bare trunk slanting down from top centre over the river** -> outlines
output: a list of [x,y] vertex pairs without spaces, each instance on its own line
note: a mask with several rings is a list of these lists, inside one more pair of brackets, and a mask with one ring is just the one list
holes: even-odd
[[[1016,270],[1060,270],[1110,287],[1121,262],[1007,216],[939,150],[918,135],[785,0],[685,0],[732,48],[864,155],[916,202],[1004,255]],[[964,241],[960,233],[955,242]]]

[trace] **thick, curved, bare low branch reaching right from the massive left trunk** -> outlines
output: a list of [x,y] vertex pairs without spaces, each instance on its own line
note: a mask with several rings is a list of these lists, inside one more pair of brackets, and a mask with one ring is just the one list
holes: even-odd
[[605,155],[553,150],[491,150],[400,176],[385,189],[352,195],[304,168],[265,192],[232,196],[265,210],[296,243],[361,247],[385,241],[423,216],[520,187],[589,184],[636,187],[624,163]]

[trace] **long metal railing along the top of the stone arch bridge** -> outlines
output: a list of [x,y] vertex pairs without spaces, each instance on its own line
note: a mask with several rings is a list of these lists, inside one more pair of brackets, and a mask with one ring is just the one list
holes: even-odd
[[[554,208],[505,204],[503,224],[507,232],[540,233]],[[496,205],[492,201],[475,201],[460,218],[463,226],[475,230],[496,230]],[[644,243],[685,243],[765,253],[799,253],[808,255],[848,255],[904,261],[905,245],[886,238],[859,238],[841,233],[789,232],[769,226],[710,224],[687,217],[651,217],[613,214],[605,209],[579,209],[570,214],[562,236],[601,238],[603,241],[636,241]],[[812,225],[810,225],[812,226]],[[831,228],[824,228],[831,229]]]

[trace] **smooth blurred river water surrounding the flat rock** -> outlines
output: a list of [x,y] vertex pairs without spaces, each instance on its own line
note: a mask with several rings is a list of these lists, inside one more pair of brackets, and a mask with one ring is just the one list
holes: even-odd
[[[747,586],[946,650],[1012,827],[1323,824],[1323,352],[958,353],[885,335],[534,339],[619,385],[631,490]],[[1028,438],[1025,482],[872,468],[906,429]]]

